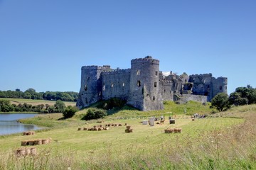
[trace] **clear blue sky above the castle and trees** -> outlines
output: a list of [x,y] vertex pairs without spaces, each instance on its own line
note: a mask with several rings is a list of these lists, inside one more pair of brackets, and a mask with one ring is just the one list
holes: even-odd
[[256,1],[0,0],[1,91],[79,91],[83,65],[146,55],[256,87]]

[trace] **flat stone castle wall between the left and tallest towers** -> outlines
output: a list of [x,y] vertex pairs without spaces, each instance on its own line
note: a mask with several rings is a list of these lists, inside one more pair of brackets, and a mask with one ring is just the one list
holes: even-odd
[[128,99],[131,69],[102,72],[102,100],[110,98]]

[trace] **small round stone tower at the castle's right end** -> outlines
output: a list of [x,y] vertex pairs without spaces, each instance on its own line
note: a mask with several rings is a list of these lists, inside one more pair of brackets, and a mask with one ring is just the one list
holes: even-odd
[[[228,93],[228,78],[218,77],[217,79],[213,78],[213,91],[212,98],[219,93]],[[210,98],[210,100],[212,99]]]

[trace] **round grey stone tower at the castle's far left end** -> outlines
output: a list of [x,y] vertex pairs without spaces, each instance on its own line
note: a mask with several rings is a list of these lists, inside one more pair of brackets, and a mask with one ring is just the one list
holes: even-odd
[[101,98],[100,74],[102,67],[83,66],[81,68],[81,87],[77,106],[82,108],[95,103]]

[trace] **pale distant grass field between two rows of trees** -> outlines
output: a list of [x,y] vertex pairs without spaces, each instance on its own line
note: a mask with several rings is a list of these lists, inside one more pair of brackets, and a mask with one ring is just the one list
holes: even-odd
[[[25,99],[25,98],[0,98],[3,100],[11,101],[11,104],[18,105],[19,103],[27,103],[32,106],[40,105],[40,104],[48,104],[49,106],[53,106],[56,101],[46,101],[46,100],[33,100],[33,99]],[[64,101],[66,106],[75,106],[75,102]]]

